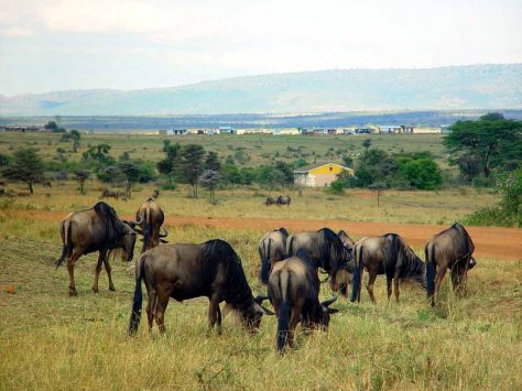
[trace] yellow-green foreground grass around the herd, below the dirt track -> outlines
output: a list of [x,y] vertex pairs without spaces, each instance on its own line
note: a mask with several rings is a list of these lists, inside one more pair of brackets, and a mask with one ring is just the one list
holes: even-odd
[[[220,237],[242,257],[253,291],[258,259],[254,231],[185,227],[178,241]],[[32,236],[32,233],[31,233]],[[224,335],[207,335],[207,300],[172,301],[167,334],[127,337],[133,267],[112,261],[117,292],[105,272],[90,291],[95,257],[76,268],[77,297],[67,295],[65,268],[54,270],[59,246],[34,239],[0,242],[0,389],[504,389],[522,385],[520,371],[520,262],[481,260],[469,274],[468,295],[456,298],[445,281],[441,305],[404,285],[402,303],[388,304],[384,280],[378,304],[339,298],[328,333],[298,335],[297,347],[274,350],[276,322],[264,317],[250,336],[232,317]],[[417,249],[415,249],[417,250]],[[329,295],[323,286],[322,296]],[[518,311],[518,313],[516,313]],[[144,327],[145,326],[145,327]]]

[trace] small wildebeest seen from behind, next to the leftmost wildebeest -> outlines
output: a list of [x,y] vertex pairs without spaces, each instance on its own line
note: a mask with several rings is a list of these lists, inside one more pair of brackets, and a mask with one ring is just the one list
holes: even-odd
[[[141,221],[141,230],[137,231],[143,235],[143,247],[141,249],[141,253],[159,246],[160,241],[162,243],[167,242],[163,238],[165,238],[168,232],[165,228],[161,228],[165,219],[165,215],[163,214],[163,210],[160,208],[160,206],[154,203],[154,199],[149,198],[143,204],[141,204],[140,208],[135,213],[135,219]],[[163,233],[160,232],[161,229],[163,229]]]

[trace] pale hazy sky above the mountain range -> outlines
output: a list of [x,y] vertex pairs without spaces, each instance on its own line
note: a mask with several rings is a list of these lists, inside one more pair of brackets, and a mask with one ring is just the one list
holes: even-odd
[[0,95],[522,63],[522,0],[0,0]]

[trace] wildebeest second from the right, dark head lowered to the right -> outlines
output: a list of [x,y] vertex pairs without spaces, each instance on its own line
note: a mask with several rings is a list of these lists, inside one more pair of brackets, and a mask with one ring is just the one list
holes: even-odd
[[395,300],[399,302],[399,282],[401,279],[414,280],[422,285],[425,284],[424,262],[406,245],[404,239],[396,233],[387,233],[378,237],[368,237],[359,240],[355,246],[356,269],[354,271],[354,284],[351,301],[360,302],[363,269],[370,275],[367,289],[370,298],[376,303],[373,284],[377,275],[387,275],[388,300],[392,294],[392,282],[394,282]]

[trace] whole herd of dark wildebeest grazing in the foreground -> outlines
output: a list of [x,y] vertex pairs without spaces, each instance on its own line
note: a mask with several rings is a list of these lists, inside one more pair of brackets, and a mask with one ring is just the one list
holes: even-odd
[[[67,261],[69,294],[76,295],[74,265],[79,257],[99,251],[93,290],[98,292],[98,279],[104,264],[111,279],[109,254],[119,251],[127,261],[133,258],[137,235],[143,237],[141,256],[135,263],[135,290],[129,324],[129,334],[138,330],[142,313],[142,283],[146,287],[146,315],[149,330],[155,319],[160,333],[165,332],[164,313],[168,300],[184,301],[206,296],[209,298],[209,330],[217,324],[221,334],[224,316],[235,311],[242,324],[254,333],[262,315],[276,315],[276,347],[283,352],[293,346],[294,332],[301,323],[305,330],[328,327],[330,314],[338,312],[329,306],[337,300],[319,302],[318,272],[327,275],[330,291],[348,297],[351,284],[351,302],[360,301],[363,271],[369,273],[368,293],[372,302],[373,284],[379,274],[385,274],[388,298],[392,294],[399,302],[401,280],[422,284],[428,300],[435,298],[446,271],[450,270],[453,287],[464,292],[467,271],[475,267],[474,243],[466,229],[454,224],[432,237],[425,247],[424,263],[398,233],[366,237],[354,242],[345,232],[328,228],[313,232],[289,235],[284,228],[267,232],[259,242],[261,259],[260,279],[268,285],[267,295],[254,296],[244,275],[241,260],[233,248],[220,239],[204,243],[166,242],[162,228],[164,213],[155,202],[157,193],[144,202],[135,214],[135,220],[120,219],[115,209],[104,202],[93,208],[70,213],[59,226],[63,240],[62,257],[56,267]],[[290,203],[290,200],[289,200]],[[274,312],[262,306],[269,300]]]

